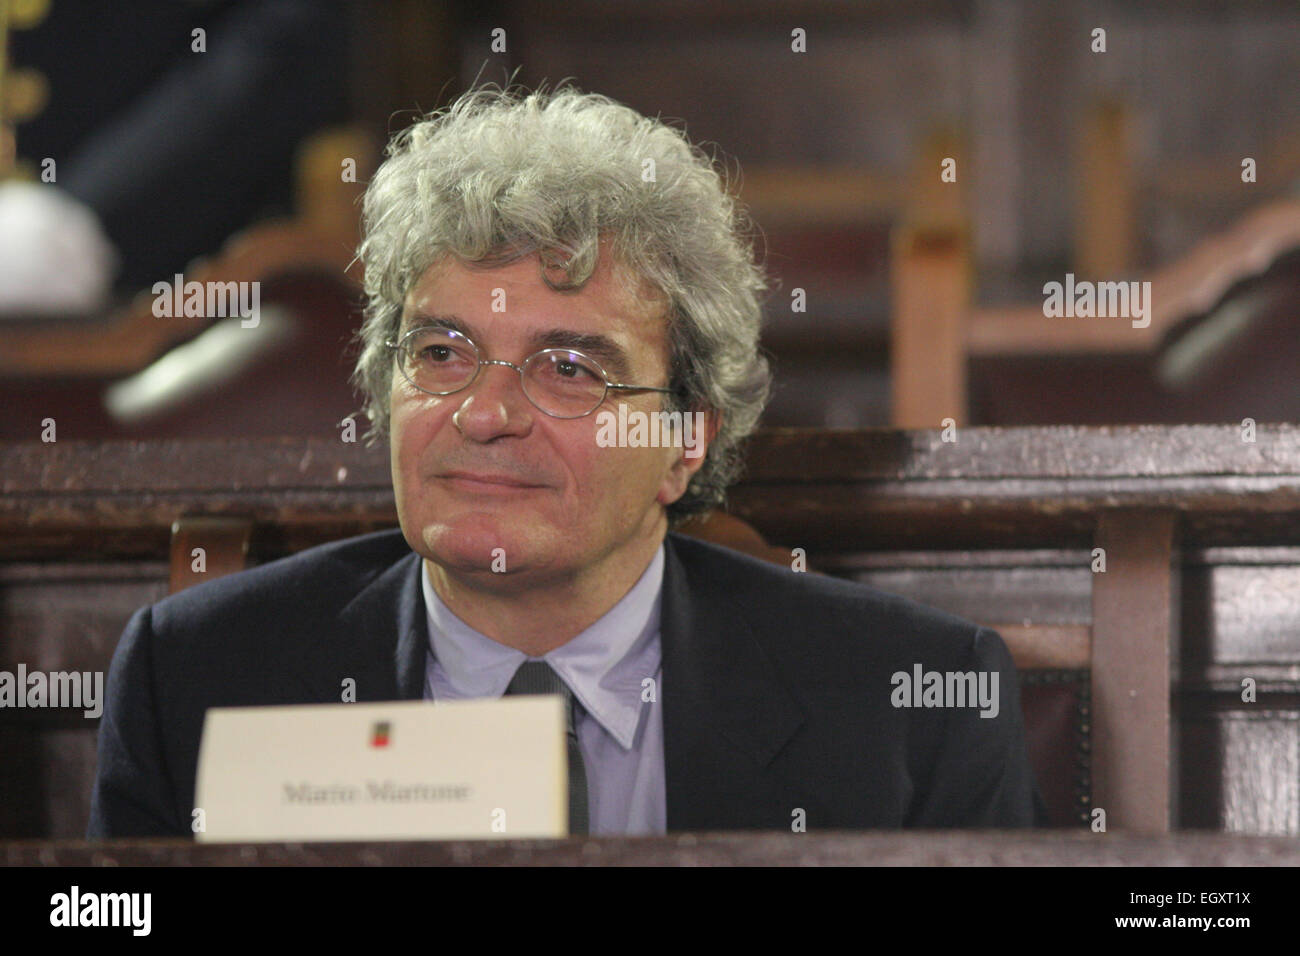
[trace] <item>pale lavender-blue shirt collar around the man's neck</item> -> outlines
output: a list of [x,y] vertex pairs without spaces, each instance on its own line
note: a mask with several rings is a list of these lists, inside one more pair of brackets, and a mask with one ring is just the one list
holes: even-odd
[[[624,749],[636,739],[642,711],[642,682],[658,680],[659,604],[664,548],[618,604],[567,644],[542,657],[586,711]],[[429,653],[438,661],[454,696],[499,697],[528,656],[469,627],[442,602],[421,568],[429,617]]]

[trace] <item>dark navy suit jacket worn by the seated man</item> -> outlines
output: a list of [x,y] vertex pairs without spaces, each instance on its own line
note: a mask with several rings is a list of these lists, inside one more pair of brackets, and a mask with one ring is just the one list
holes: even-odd
[[[992,631],[679,535],[660,633],[668,830],[1045,821],[1015,669]],[[88,835],[188,835],[204,711],[422,696],[421,564],[380,532],[188,588],[113,656]],[[998,715],[896,708],[890,678],[998,671]]]

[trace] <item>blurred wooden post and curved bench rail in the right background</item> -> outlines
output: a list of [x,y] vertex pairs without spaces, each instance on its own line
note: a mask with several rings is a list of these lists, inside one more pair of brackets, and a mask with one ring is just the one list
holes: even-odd
[[[966,424],[971,418],[967,373],[972,360],[1100,356],[1144,363],[1139,382],[1161,394],[1186,388],[1188,380],[1204,377],[1225,356],[1232,358],[1228,346],[1243,337],[1243,330],[1264,325],[1274,313],[1284,323],[1282,347],[1287,347],[1294,341],[1287,320],[1294,315],[1300,286],[1295,278],[1297,258],[1300,202],[1278,199],[1252,209],[1228,229],[1157,269],[1141,274],[1079,274],[1087,281],[1150,282],[1148,324],[1135,328],[1127,319],[1046,317],[1041,297],[1020,306],[978,308],[970,243],[962,226],[900,232],[890,264],[894,395],[890,421],[900,428],[937,428],[946,418]],[[1208,324],[1209,332],[1192,334],[1200,324]],[[1240,375],[1249,372],[1240,369]],[[1060,381],[1050,381],[1050,371],[1040,375],[1060,388]],[[1126,378],[1118,381],[1132,388]],[[1188,420],[1176,408],[1153,408],[1152,397],[1145,393],[1135,395],[1132,402],[1127,408],[1122,402],[1108,402],[1109,407],[1123,408],[1124,418],[1106,420],[1132,420],[1136,410],[1143,410],[1145,418],[1157,416],[1154,420]],[[1062,408],[1052,408],[1048,415],[1069,415],[1048,420],[1083,420],[1078,412]],[[1222,407],[1210,406],[1191,420],[1219,415]]]

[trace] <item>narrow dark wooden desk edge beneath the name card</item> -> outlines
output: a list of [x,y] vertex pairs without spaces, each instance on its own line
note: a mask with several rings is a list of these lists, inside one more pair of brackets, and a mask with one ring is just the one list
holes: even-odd
[[5,866],[1300,866],[1300,840],[1084,831],[722,832],[445,843],[0,843]]

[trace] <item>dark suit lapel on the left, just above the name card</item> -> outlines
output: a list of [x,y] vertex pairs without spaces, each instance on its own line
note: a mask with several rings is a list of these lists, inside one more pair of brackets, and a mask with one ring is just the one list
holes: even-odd
[[318,700],[338,701],[342,682],[356,682],[358,701],[419,700],[424,696],[429,645],[422,563],[408,553],[372,580],[339,611],[320,645],[309,675]]

